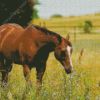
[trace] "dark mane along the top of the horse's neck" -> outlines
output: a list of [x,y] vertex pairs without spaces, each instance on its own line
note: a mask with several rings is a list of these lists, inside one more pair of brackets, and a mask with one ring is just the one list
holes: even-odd
[[52,32],[52,31],[48,30],[47,28],[43,28],[43,27],[40,27],[40,26],[34,25],[34,24],[28,26],[28,28],[30,28],[30,27],[35,27],[37,30],[42,31],[43,33],[45,33],[47,36],[50,36],[51,38],[52,38],[52,36],[56,36],[58,41],[59,41],[59,44],[61,44],[61,42],[62,42],[61,38],[62,37],[59,34]]

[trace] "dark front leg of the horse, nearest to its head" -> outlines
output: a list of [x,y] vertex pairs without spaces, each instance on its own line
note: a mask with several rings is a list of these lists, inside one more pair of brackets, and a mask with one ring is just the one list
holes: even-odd
[[37,71],[37,84],[38,84],[38,95],[39,95],[39,91],[42,87],[42,77],[44,75],[46,69],[46,63],[40,64],[40,66],[36,67],[36,71]]

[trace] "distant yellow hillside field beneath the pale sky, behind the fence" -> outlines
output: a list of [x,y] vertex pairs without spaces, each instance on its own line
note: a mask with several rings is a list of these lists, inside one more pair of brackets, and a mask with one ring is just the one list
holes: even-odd
[[[49,19],[35,19],[31,21],[31,24],[40,25],[42,27],[46,27],[52,31],[72,31],[74,30],[74,26],[78,26],[79,24],[84,25],[85,20],[90,20],[93,26],[92,31],[100,31],[100,14],[94,15],[86,15],[86,16],[70,16],[70,17],[62,17],[62,18],[49,18]],[[45,23],[45,25],[44,25]],[[59,27],[59,28],[58,28]],[[77,31],[82,31],[83,28],[76,28]]]

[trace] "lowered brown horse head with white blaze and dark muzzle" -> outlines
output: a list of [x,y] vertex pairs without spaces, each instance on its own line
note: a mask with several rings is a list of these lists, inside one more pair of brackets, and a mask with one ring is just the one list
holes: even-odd
[[55,57],[64,66],[67,74],[71,73],[73,70],[73,65],[71,61],[72,45],[69,42],[69,34],[66,39],[61,38],[62,42],[55,48]]

